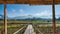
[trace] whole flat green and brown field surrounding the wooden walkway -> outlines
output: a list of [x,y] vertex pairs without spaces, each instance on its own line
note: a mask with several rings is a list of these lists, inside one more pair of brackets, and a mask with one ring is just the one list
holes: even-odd
[[[2,24],[2,25],[1,25]],[[52,20],[8,20],[7,21],[7,33],[13,34],[17,30],[21,29],[22,27],[32,24],[34,27],[37,27],[39,31],[43,34],[52,34]],[[3,31],[3,21],[0,21],[0,34]],[[34,28],[35,29],[35,28]],[[35,31],[36,32],[36,31]],[[20,34],[20,32],[18,32]],[[37,32],[36,32],[37,33]],[[60,33],[60,21],[56,20],[56,34]]]

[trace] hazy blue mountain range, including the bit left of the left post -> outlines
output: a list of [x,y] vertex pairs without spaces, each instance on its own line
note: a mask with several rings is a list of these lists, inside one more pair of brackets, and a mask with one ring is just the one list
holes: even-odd
[[[1,15],[1,14],[0,14],[0,19],[4,19],[4,15]],[[46,18],[41,18],[41,17],[36,17],[36,16],[34,17],[34,16],[32,16],[32,15],[17,16],[17,17],[12,17],[12,18],[7,16],[7,19],[8,19],[8,20],[11,20],[11,19],[12,19],[12,20],[17,20],[17,19],[19,19],[19,20],[20,20],[20,19],[26,19],[26,20],[31,20],[31,19],[32,19],[32,20],[50,20],[49,18],[46,19]]]

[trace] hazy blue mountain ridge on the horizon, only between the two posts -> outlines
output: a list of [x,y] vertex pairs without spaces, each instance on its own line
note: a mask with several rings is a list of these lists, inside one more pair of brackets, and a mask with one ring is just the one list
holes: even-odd
[[17,17],[13,17],[13,18],[10,18],[10,17],[8,17],[8,19],[10,20],[10,19],[14,19],[14,20],[17,20],[17,19],[24,19],[24,20],[42,20],[42,19],[44,19],[44,18],[40,18],[40,17],[34,17],[34,16],[32,16],[32,15],[27,15],[27,16],[17,16]]

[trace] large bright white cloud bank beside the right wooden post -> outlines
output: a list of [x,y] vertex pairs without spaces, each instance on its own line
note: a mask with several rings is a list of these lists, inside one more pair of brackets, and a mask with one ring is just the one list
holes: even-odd
[[39,13],[36,13],[34,16],[43,17],[43,18],[52,18],[52,12],[48,10],[44,10]]

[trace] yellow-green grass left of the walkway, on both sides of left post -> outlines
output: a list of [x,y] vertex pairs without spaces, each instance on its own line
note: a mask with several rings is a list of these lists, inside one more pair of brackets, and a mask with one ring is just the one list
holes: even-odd
[[[19,30],[22,28],[24,25],[8,25],[7,26],[7,34],[13,34],[15,31]],[[0,33],[3,30],[3,26],[0,26]]]

